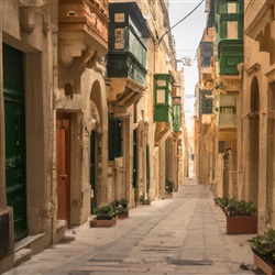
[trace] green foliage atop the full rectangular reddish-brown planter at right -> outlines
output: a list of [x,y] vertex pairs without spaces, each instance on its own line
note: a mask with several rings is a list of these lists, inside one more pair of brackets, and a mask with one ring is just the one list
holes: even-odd
[[257,215],[257,209],[252,201],[238,200],[234,198],[217,198],[216,201],[226,208],[230,217]]

